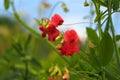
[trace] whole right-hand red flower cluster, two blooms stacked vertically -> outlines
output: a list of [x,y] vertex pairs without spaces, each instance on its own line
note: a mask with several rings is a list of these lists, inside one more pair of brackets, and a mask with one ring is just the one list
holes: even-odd
[[58,49],[60,50],[60,55],[71,56],[74,53],[79,52],[78,43],[80,43],[80,39],[77,33],[74,30],[68,30],[64,34],[64,43]]

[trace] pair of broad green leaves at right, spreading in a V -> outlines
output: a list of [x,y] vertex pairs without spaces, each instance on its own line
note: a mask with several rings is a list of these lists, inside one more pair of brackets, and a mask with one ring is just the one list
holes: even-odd
[[96,52],[98,56],[97,59],[100,62],[101,66],[106,66],[112,56],[114,51],[113,40],[108,32],[103,33],[102,40],[99,40],[95,30],[87,28],[88,39],[96,46]]

